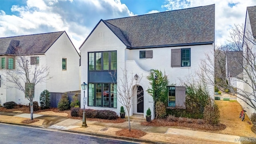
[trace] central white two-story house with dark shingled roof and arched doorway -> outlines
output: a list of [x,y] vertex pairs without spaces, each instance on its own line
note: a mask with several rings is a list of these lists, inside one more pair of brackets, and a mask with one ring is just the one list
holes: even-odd
[[[205,54],[214,59],[211,53],[214,52],[214,20],[214,4],[100,20],[80,46],[81,82],[88,84],[86,108],[119,114],[122,105],[118,102],[118,80],[112,80],[110,72],[122,78],[124,69],[128,70],[129,78],[136,74],[142,78],[137,86],[142,90],[143,101],[137,104],[135,92],[130,116],[144,114],[145,117],[148,108],[153,112],[153,98],[146,91],[151,87],[146,76],[152,69],[165,71],[170,84],[176,84],[168,86],[168,106],[184,107],[182,81],[197,79],[195,72]],[[213,96],[213,86],[208,88]]]

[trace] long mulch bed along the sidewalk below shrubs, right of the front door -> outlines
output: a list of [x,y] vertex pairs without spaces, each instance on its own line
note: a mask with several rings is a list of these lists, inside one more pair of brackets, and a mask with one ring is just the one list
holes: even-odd
[[226,128],[225,124],[196,124],[196,123],[187,123],[187,122],[168,122],[164,119],[154,119],[151,122],[142,122],[142,125],[145,126],[162,126],[162,127],[168,127],[168,126],[182,126],[191,128],[191,130],[207,130],[207,131],[216,131],[216,130],[224,130]]

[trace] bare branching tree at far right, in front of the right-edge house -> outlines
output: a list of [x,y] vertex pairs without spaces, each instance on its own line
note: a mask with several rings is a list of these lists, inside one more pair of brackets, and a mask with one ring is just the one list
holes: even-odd
[[[222,90],[230,91],[230,94],[236,95],[246,104],[256,110],[256,41],[252,32],[244,29],[243,25],[234,25],[230,30],[230,40],[228,44],[218,47],[218,50],[224,53],[227,60],[232,62],[231,66],[226,66],[227,74],[223,74],[220,66],[216,65],[214,69],[214,60],[206,54],[206,58],[201,60],[198,75],[200,79],[206,80],[208,84],[214,85]],[[216,54],[216,53],[215,53]],[[215,55],[216,59],[222,59],[222,55]],[[214,74],[215,82],[208,76]],[[234,88],[230,83],[232,78],[243,83],[243,87]],[[244,88],[246,86],[246,88]]]

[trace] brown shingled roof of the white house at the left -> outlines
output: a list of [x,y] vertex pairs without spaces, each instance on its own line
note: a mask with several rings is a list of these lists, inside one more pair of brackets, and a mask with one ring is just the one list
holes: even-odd
[[22,48],[24,54],[45,53],[64,32],[0,38],[0,54],[14,54],[16,47]]

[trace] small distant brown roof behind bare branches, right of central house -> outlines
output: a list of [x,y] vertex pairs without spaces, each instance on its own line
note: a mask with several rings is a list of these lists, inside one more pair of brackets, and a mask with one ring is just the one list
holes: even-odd
[[237,76],[243,72],[243,51],[226,52],[227,74]]

